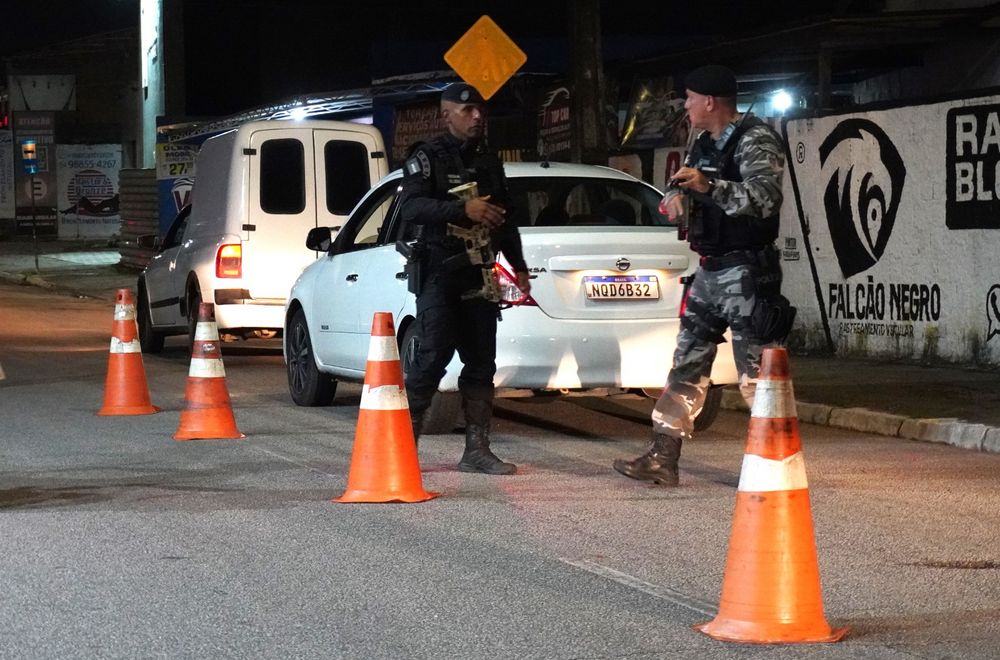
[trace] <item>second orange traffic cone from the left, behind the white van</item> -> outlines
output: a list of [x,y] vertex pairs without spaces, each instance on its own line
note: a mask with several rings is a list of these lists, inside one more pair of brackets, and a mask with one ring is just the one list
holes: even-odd
[[175,440],[244,438],[236,428],[233,406],[222,366],[219,328],[215,325],[215,305],[201,303],[198,325],[191,346],[191,368],[184,392],[184,410]]

